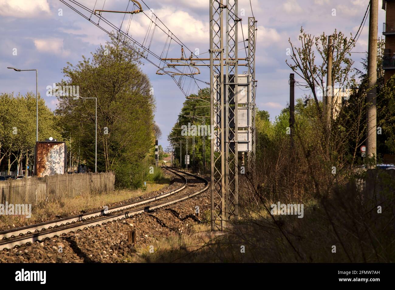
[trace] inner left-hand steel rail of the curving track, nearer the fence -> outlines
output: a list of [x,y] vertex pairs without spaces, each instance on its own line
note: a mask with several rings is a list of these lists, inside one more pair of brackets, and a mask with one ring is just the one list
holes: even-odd
[[[170,171],[170,170],[169,170]],[[28,225],[28,226],[22,226],[19,228],[12,228],[10,230],[4,230],[2,232],[0,232],[0,239],[4,239],[4,238],[12,238],[12,237],[16,237],[16,236],[20,236],[22,234],[29,234],[32,232],[37,232],[43,229],[48,229],[48,228],[53,228],[56,226],[64,226],[64,225],[69,225],[70,223],[76,223],[76,222],[81,222],[84,221],[86,219],[90,219],[90,218],[94,218],[94,217],[99,217],[101,215],[104,214],[109,214],[109,213],[113,213],[115,211],[121,211],[121,210],[125,210],[128,208],[132,208],[135,206],[139,206],[141,204],[146,204],[148,202],[152,202],[161,198],[164,198],[166,196],[172,195],[174,193],[177,193],[179,191],[181,191],[182,189],[184,189],[188,183],[188,181],[186,180],[186,178],[176,172],[173,172],[174,174],[178,175],[179,177],[184,179],[184,183],[176,188],[173,189],[171,191],[168,191],[166,193],[162,193],[160,195],[156,195],[156,196],[152,196],[149,198],[145,198],[142,200],[139,200],[137,202],[129,202],[127,204],[121,204],[119,206],[113,206],[111,208],[109,208],[108,210],[96,210],[96,211],[91,211],[89,213],[82,213],[79,215],[73,215],[71,217],[63,217],[61,219],[55,219],[52,221],[46,221],[43,223],[38,223],[38,224],[34,224],[34,225]]]

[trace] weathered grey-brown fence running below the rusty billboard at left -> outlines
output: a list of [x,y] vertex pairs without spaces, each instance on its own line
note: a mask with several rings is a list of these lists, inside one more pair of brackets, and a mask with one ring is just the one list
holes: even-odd
[[0,203],[38,204],[65,197],[113,191],[113,172],[55,174],[44,177],[0,181]]

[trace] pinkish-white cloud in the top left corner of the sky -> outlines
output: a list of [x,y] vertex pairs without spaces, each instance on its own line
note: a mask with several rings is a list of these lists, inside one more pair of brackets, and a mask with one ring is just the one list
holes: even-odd
[[0,0],[0,15],[18,18],[49,14],[47,0]]

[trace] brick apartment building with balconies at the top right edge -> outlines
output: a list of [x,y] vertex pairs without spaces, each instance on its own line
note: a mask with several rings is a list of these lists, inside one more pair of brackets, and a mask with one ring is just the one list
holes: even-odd
[[382,8],[386,11],[383,35],[386,48],[383,56],[384,83],[395,74],[395,0],[383,0]]

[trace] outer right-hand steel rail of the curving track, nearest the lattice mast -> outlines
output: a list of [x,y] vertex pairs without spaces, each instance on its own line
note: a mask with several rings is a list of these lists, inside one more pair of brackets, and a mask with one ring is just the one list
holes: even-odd
[[[167,170],[169,170],[169,168],[165,167]],[[204,191],[206,191],[209,188],[209,182],[205,179],[202,178],[200,176],[196,176],[194,174],[190,174],[188,172],[183,172],[181,170],[177,170],[174,168],[171,168],[171,170],[175,170],[178,172],[181,172],[183,174],[189,175],[189,176],[193,176],[199,180],[202,180],[205,183],[205,187],[203,187],[202,189],[194,192],[194,193],[188,193],[186,195],[182,195],[180,197],[177,198],[173,198],[171,200],[166,200],[163,202],[159,202],[158,204],[154,204],[151,206],[143,206],[143,207],[139,207],[139,208],[133,208],[127,211],[122,211],[119,213],[115,213],[113,215],[110,216],[102,216],[99,217],[98,219],[94,219],[92,221],[82,221],[81,223],[73,223],[71,225],[66,225],[66,226],[59,226],[56,228],[52,228],[49,230],[45,230],[45,231],[41,231],[41,232],[36,232],[36,233],[32,233],[32,234],[27,234],[24,236],[19,236],[17,238],[13,238],[10,240],[2,240],[0,241],[0,250],[2,249],[11,249],[17,245],[21,245],[21,244],[25,244],[25,243],[34,243],[35,241],[39,241],[45,238],[52,238],[54,236],[60,236],[62,234],[68,234],[69,232],[74,232],[75,230],[83,230],[85,228],[89,228],[89,227],[94,227],[94,226],[100,226],[100,225],[105,225],[106,223],[115,221],[115,220],[122,220],[122,219],[126,219],[128,217],[131,217],[133,215],[139,214],[139,213],[144,213],[147,211],[152,211],[158,208],[162,208],[164,206],[168,206],[170,204],[175,204],[177,202],[180,202],[182,200],[185,200],[187,198],[190,198],[192,196],[198,195],[199,193],[202,193]],[[169,171],[171,171],[169,170]]]

